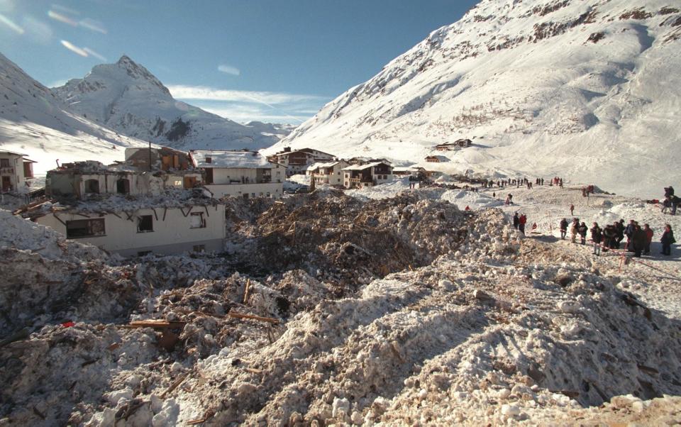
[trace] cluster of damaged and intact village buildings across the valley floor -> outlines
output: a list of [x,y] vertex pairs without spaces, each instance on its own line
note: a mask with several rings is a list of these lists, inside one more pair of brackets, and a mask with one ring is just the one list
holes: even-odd
[[[18,153],[0,155],[4,192],[28,187],[33,161]],[[112,165],[57,163],[45,176],[45,198],[16,214],[123,256],[219,251],[228,198],[278,199],[294,174],[307,174],[312,186],[361,189],[431,173],[394,167],[386,159],[339,159],[310,148],[285,148],[265,157],[247,150],[185,152],[150,145],[127,148],[125,159]]]

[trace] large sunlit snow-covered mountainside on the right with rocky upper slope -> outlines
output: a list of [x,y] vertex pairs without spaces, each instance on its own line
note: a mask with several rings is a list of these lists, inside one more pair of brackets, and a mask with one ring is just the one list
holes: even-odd
[[266,150],[565,176],[646,197],[681,180],[677,0],[482,0]]

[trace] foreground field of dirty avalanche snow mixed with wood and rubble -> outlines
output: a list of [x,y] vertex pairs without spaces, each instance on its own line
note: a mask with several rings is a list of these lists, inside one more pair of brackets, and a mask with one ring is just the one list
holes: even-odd
[[0,214],[1,426],[681,422],[681,321],[499,209],[238,200],[129,260]]

